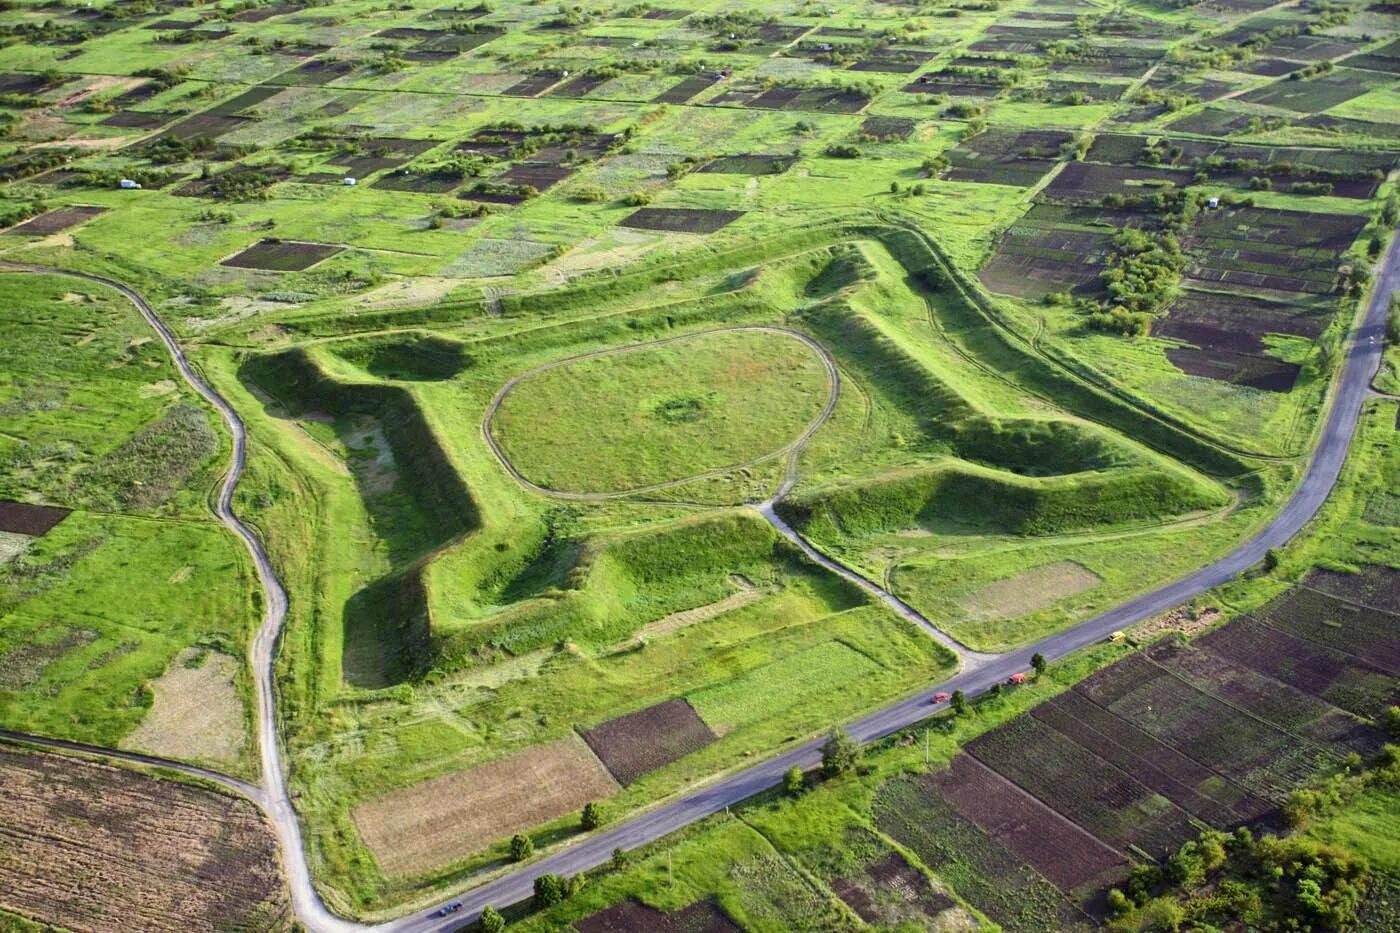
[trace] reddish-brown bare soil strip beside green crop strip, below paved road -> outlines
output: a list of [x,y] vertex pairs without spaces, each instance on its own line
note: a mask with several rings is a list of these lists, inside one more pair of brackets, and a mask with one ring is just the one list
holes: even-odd
[[[1028,749],[1029,751],[1029,749]],[[1025,859],[1061,891],[1112,884],[1127,859],[972,755],[930,778],[953,810]]]

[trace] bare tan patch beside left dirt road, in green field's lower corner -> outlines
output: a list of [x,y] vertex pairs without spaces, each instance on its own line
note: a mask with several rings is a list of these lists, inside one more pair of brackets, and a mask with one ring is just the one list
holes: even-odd
[[237,763],[246,747],[244,703],[234,686],[238,660],[209,651],[197,667],[197,649],[175,656],[151,682],[155,702],[122,748],[167,758]]

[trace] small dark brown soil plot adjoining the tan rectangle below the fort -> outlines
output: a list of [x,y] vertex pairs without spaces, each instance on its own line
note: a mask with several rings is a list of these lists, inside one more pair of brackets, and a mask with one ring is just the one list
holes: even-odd
[[584,741],[624,787],[715,740],[683,699],[666,700],[582,731]]

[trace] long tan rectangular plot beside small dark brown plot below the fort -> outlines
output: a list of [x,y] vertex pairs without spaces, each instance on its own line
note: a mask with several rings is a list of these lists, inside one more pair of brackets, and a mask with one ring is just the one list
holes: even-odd
[[430,871],[608,797],[617,785],[570,735],[367,800],[354,821],[389,876]]

